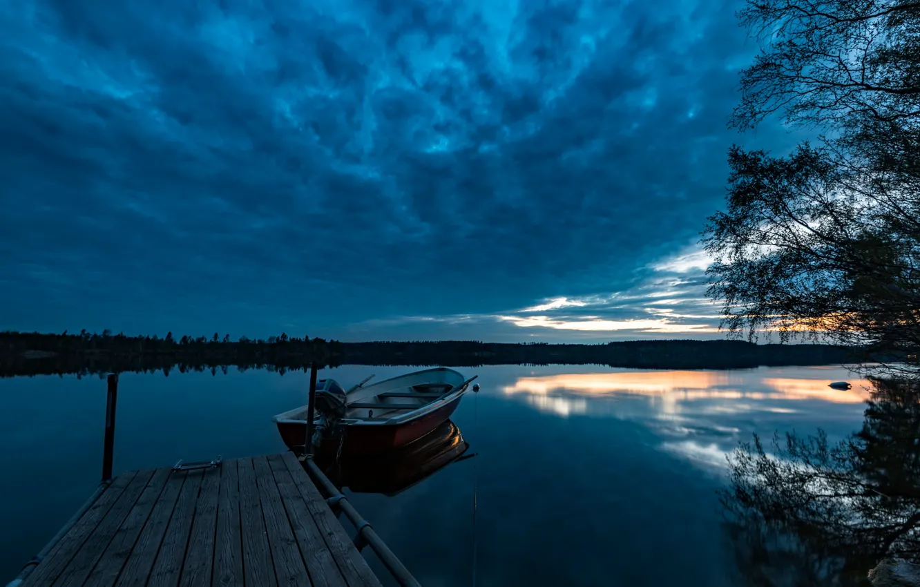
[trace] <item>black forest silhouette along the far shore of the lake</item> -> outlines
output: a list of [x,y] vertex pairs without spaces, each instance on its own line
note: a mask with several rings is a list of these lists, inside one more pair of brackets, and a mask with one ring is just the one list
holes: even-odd
[[856,350],[821,344],[753,344],[742,340],[634,340],[606,344],[494,343],[478,340],[340,342],[287,334],[230,340],[170,332],[165,338],[101,334],[0,332],[0,376],[151,373],[216,374],[270,368],[280,373],[320,366],[604,364],[647,369],[730,369],[760,365],[856,363]]

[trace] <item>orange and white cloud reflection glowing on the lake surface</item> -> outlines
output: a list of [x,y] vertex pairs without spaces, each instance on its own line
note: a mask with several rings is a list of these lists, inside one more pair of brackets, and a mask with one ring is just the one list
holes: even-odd
[[[638,420],[661,436],[661,450],[705,468],[722,467],[724,455],[752,432],[772,434],[818,427],[834,434],[858,426],[868,381],[844,368],[762,367],[738,371],[629,371],[518,377],[501,391],[536,409]],[[839,391],[832,381],[849,381]]]

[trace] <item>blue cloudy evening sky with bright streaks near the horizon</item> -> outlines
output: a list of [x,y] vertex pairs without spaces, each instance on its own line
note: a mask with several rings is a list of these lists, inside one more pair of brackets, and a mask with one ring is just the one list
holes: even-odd
[[0,5],[0,329],[710,339],[722,0]]

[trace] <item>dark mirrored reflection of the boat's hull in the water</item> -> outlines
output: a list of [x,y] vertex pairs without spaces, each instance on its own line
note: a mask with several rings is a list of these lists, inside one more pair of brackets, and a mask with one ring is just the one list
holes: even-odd
[[397,495],[465,455],[467,443],[452,420],[414,443],[381,455],[316,455],[316,464],[339,489]]

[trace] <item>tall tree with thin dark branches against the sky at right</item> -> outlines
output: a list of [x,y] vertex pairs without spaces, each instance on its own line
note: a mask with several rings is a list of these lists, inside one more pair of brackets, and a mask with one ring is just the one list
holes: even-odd
[[749,0],[738,16],[763,51],[731,124],[778,115],[830,138],[783,157],[731,148],[727,208],[703,233],[723,328],[914,354],[920,2]]

